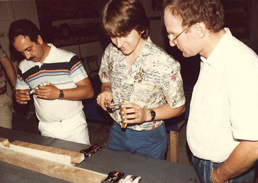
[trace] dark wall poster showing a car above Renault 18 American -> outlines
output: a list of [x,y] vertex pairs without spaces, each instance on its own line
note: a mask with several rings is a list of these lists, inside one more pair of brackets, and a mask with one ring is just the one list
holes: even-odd
[[99,41],[99,16],[107,0],[35,1],[39,27],[56,47]]

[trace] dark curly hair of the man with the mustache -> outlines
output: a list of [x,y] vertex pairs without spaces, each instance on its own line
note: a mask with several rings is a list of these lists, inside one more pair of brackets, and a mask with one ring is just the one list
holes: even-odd
[[19,35],[28,36],[31,41],[37,43],[37,35],[42,37],[37,26],[27,19],[16,20],[9,27],[9,40],[14,43],[15,38]]

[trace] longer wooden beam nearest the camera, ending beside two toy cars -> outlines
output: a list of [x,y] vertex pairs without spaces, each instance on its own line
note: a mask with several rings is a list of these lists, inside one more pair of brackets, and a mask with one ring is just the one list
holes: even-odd
[[106,174],[0,148],[0,161],[71,182],[101,182]]

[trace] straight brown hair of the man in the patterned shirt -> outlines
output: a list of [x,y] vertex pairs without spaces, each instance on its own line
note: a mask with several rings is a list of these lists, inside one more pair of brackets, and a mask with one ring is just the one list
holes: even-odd
[[138,31],[142,38],[149,36],[150,21],[138,0],[110,0],[100,15],[103,33],[110,37],[126,36],[132,30]]

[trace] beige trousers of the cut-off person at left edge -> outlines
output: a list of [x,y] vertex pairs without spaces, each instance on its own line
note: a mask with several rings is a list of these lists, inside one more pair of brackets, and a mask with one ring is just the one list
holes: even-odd
[[7,93],[0,96],[0,126],[12,129],[12,106]]

